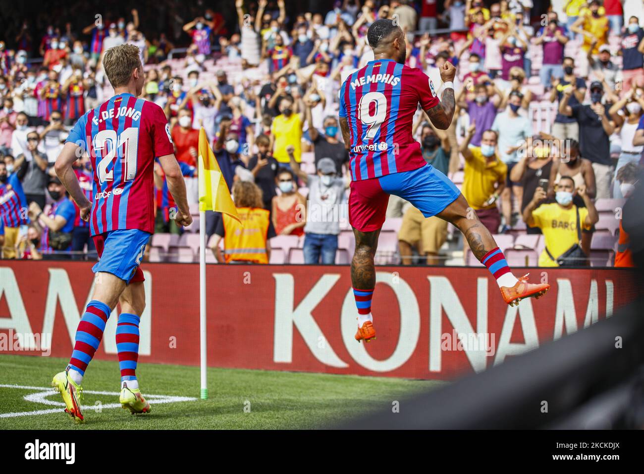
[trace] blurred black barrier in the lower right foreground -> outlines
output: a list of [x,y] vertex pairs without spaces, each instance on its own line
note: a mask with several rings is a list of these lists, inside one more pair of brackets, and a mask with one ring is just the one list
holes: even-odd
[[[643,305],[340,428],[642,428]],[[588,426],[589,413],[601,423]]]

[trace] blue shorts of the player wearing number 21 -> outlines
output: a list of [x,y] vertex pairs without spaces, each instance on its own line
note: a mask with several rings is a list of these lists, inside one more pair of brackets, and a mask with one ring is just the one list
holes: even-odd
[[139,265],[150,235],[152,234],[138,229],[111,230],[94,235],[92,238],[99,261],[91,270],[94,273],[111,273],[126,283],[144,281]]

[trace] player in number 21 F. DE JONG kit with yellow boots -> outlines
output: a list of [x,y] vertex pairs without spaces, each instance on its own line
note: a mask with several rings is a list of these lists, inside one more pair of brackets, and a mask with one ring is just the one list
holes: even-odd
[[[158,157],[173,195],[177,225],[192,218],[185,183],[176,162],[170,131],[162,108],[137,99],[145,76],[137,46],[110,48],[103,65],[114,97],[89,110],[75,124],[62,148],[55,171],[81,217],[90,222],[100,260],[91,301],[76,331],[67,368],[53,377],[66,412],[83,422],[78,399],[81,382],[105,329],[111,311],[120,303],[117,325],[118,364],[121,373],[120,403],[131,413],[146,413],[149,403],[141,395],[136,375],[138,323],[145,307],[143,272],[139,264],[154,231],[153,168]],[[90,156],[93,170],[93,202],[84,195],[72,163],[82,153]]]

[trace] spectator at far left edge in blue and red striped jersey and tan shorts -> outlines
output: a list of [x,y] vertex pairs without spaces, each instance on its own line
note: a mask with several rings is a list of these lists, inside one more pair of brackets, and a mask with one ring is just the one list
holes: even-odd
[[6,163],[0,161],[0,226],[5,232],[1,252],[3,259],[15,259],[14,247],[20,226],[28,222],[26,208],[27,200],[17,173],[9,172]]

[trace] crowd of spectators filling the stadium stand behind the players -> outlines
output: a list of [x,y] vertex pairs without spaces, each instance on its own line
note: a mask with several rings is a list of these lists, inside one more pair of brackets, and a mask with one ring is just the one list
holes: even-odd
[[[644,150],[640,10],[625,12],[620,0],[564,0],[554,8],[532,0],[326,3],[328,11],[301,11],[284,0],[236,0],[234,12],[190,6],[179,14],[175,3],[160,2],[172,21],[144,25],[131,9],[88,14],[79,28],[51,17],[50,25],[24,19],[6,30],[3,258],[95,258],[88,224],[53,163],[75,121],[111,95],[102,55],[131,43],[146,70],[142,98],[166,112],[195,217],[204,127],[236,206],[261,231],[236,237],[235,222],[212,212],[178,228],[155,164],[156,233],[146,258],[196,261],[205,226],[211,262],[348,263],[350,164],[338,91],[374,59],[368,26],[390,17],[406,33],[406,65],[422,68],[439,97],[440,65],[457,66],[450,128],[437,130],[419,109],[413,135],[509,263],[631,264],[620,210],[640,183]],[[194,16],[178,21],[187,14]],[[89,157],[75,166],[92,199]],[[387,217],[379,263],[474,263],[447,222],[425,219],[395,196]]]

